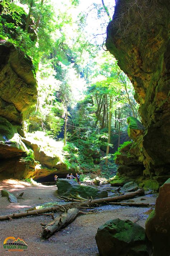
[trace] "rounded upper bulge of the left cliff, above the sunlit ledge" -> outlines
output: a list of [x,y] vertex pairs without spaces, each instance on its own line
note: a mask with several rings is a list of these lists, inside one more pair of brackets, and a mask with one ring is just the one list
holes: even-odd
[[21,124],[36,104],[37,81],[31,59],[13,44],[0,44],[0,116]]

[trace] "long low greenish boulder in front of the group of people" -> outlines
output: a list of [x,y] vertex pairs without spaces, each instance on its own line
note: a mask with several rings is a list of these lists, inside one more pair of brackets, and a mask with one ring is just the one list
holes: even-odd
[[108,197],[106,190],[100,190],[91,186],[79,185],[75,180],[58,179],[57,180],[58,195],[69,196],[70,194],[79,193],[83,198],[104,198]]

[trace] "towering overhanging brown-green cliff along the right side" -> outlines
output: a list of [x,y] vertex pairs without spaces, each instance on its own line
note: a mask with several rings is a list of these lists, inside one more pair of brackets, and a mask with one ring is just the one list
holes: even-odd
[[170,177],[169,11],[166,0],[118,0],[106,41],[140,104],[143,175],[159,184]]

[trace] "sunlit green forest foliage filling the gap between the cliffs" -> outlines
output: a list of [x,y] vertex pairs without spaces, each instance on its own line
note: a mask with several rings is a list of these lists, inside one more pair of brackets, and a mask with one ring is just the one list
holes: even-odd
[[[86,15],[79,13],[79,2],[33,1],[27,32],[25,21],[30,1],[15,1],[14,4],[2,0],[0,37],[20,47],[36,68],[37,104],[24,113],[23,122],[25,132],[30,131],[27,136],[32,143],[37,143],[51,156],[58,156],[68,170],[100,173],[109,178],[115,174],[117,166],[111,155],[108,165],[104,165],[100,148],[107,145],[103,141],[108,138],[110,98],[112,130],[118,130],[119,123],[120,130],[125,130],[127,116],[132,116],[133,111],[137,115],[137,105],[132,84],[119,69],[117,60],[101,51],[85,32],[90,14],[102,17],[105,30],[108,17],[105,17],[103,6],[93,4]],[[62,141],[56,142],[52,138],[56,139],[61,132],[67,111],[69,131],[67,144],[63,147]],[[121,112],[119,120],[118,112]],[[30,151],[26,158],[34,161],[33,153]]]

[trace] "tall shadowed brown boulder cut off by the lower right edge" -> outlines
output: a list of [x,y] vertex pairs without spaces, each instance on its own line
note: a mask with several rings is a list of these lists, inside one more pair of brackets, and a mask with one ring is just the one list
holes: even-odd
[[146,234],[153,243],[154,256],[170,255],[170,178],[160,187],[155,210],[145,223]]

